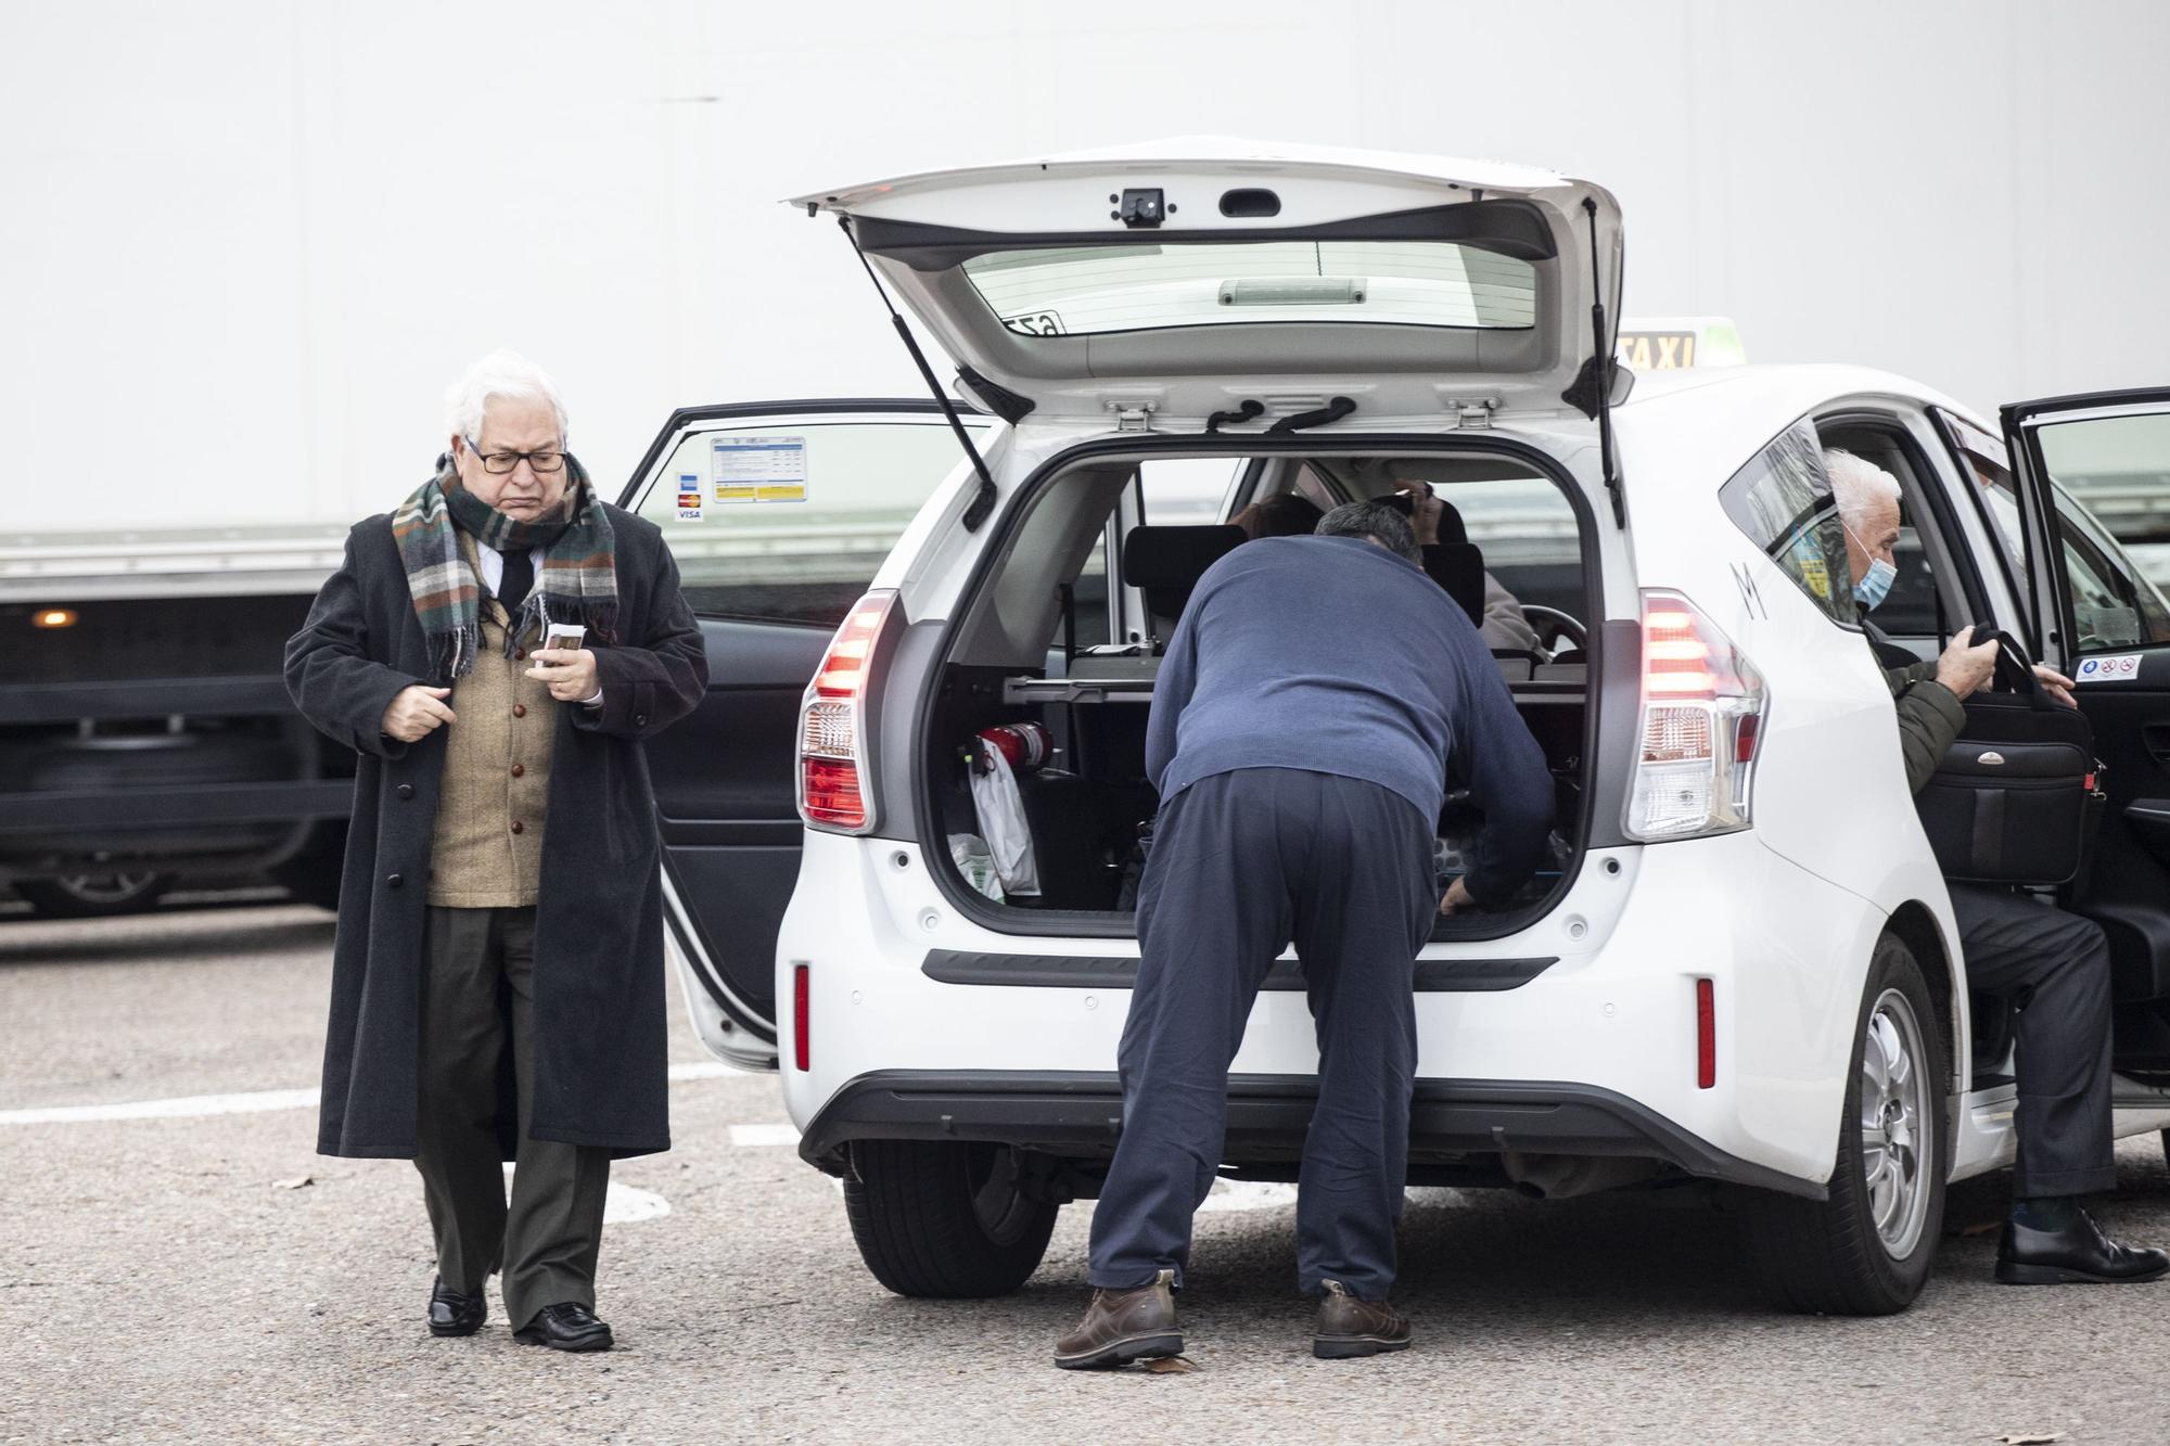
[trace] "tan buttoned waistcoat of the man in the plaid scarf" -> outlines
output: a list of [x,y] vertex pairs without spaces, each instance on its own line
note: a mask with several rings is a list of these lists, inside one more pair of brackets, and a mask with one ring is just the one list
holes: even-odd
[[[467,534],[460,551],[480,578]],[[560,703],[527,677],[527,647],[506,658],[506,625],[503,606],[484,597],[475,671],[456,680],[445,699],[458,723],[445,725],[445,782],[430,842],[430,903],[438,908],[510,910],[540,897]]]

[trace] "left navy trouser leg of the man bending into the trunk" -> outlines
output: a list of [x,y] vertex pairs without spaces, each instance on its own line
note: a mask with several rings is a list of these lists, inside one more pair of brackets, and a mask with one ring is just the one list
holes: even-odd
[[[1089,1281],[1146,1285],[1191,1255],[1228,1122],[1228,1064],[1289,942],[1269,771],[1215,773],[1161,808],[1137,895],[1144,962],[1122,1025],[1122,1138],[1092,1216]],[[1300,849],[1287,840],[1287,849]]]

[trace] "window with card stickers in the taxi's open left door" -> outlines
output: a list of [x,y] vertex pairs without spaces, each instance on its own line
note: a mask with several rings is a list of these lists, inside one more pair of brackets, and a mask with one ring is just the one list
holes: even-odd
[[933,413],[694,421],[634,510],[664,530],[694,612],[835,627],[961,456]]

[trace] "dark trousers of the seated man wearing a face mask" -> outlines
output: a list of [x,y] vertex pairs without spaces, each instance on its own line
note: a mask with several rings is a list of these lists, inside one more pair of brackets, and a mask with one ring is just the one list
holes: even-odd
[[1951,886],[1966,981],[2018,1005],[2018,1168],[2012,1194],[2118,1183],[2109,1129],[2109,944],[2079,914],[1999,888]]

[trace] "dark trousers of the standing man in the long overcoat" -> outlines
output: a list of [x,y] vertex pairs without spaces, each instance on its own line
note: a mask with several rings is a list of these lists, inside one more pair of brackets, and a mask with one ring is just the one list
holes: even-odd
[[523,1125],[506,1205],[497,1075],[510,1049],[521,1120],[532,1118],[534,966],[532,908],[430,910],[414,1168],[436,1233],[436,1272],[475,1292],[501,1268],[514,1331],[545,1305],[595,1309],[610,1185],[610,1151],[529,1140]]

